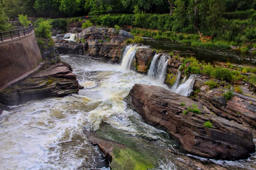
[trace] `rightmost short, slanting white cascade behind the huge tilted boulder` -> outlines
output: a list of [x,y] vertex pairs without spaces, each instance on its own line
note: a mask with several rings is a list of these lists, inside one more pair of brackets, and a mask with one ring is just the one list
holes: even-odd
[[175,93],[179,93],[182,96],[189,96],[190,93],[193,91],[194,86],[194,77],[196,75],[192,74],[186,82],[182,83],[176,90]]

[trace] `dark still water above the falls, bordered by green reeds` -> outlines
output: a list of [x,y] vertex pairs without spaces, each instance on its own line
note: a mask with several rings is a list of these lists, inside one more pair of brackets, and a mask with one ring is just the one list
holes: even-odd
[[[144,38],[144,45],[149,45],[150,48],[162,49],[164,52],[171,52],[172,50],[181,51],[182,56],[190,56],[193,54],[199,61],[212,63],[213,61],[230,62],[242,65],[256,66],[256,55],[249,53],[240,53],[233,49],[220,48],[206,48],[195,47],[191,45],[180,44],[166,38],[160,40],[152,38]],[[189,53],[187,51],[189,50]]]

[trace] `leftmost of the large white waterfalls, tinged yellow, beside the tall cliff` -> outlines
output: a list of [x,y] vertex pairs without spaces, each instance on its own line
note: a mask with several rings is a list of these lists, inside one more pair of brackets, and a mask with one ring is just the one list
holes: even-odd
[[125,48],[124,54],[123,54],[123,59],[122,59],[122,64],[121,64],[121,69],[122,70],[131,70],[132,69],[132,62],[135,59],[135,54],[137,52],[137,49],[139,48],[145,48],[145,47],[137,47],[137,44],[134,45],[128,45]]

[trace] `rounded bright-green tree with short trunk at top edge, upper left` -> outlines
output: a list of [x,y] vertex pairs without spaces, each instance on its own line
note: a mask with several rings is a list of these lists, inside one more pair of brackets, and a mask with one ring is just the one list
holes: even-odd
[[59,10],[71,17],[76,11],[79,11],[79,0],[61,0]]

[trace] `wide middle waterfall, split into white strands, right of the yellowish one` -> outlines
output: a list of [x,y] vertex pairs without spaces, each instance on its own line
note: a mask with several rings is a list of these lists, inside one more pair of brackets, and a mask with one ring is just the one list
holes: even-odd
[[160,58],[158,58],[159,54],[155,54],[150,64],[148,77],[163,83],[165,79],[166,67],[168,65],[168,59],[166,55],[161,55]]

